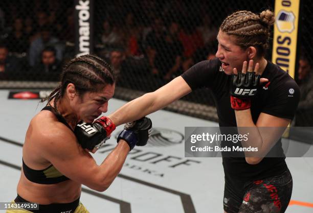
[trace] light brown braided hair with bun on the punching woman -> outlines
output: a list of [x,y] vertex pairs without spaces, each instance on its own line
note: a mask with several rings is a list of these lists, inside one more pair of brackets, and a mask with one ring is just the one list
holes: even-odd
[[274,21],[274,13],[270,10],[265,10],[259,15],[242,10],[228,16],[219,29],[235,36],[237,45],[242,49],[255,46],[258,55],[263,56],[269,48],[270,28]]

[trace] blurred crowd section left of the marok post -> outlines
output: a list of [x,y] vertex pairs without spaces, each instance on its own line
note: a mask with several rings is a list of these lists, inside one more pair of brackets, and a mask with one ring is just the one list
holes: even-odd
[[1,1],[2,78],[40,80],[40,76],[46,76],[46,79],[57,80],[64,57],[68,54],[67,46],[74,46],[71,4],[58,1],[45,1],[44,4],[42,1],[31,4],[30,1]]

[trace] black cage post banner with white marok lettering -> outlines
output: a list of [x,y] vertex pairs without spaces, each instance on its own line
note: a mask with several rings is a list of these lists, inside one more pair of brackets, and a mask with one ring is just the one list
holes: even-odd
[[94,52],[94,0],[75,0],[75,54]]

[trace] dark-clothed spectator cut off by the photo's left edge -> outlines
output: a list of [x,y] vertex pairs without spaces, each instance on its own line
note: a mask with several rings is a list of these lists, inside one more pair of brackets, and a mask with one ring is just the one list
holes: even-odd
[[0,43],[0,73],[21,72],[21,68],[18,59],[9,55],[7,45]]

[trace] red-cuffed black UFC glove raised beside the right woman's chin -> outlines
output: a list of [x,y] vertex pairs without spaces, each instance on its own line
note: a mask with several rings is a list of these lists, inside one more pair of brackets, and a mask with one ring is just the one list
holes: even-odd
[[260,75],[254,72],[232,74],[231,106],[234,110],[244,110],[251,107],[251,98],[256,96],[260,83]]

